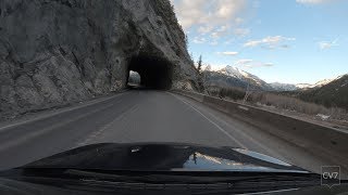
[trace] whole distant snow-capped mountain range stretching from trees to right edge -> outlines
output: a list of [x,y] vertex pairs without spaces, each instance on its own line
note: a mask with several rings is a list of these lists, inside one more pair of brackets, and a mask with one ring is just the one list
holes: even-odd
[[226,66],[220,70],[203,72],[204,84],[209,89],[240,89],[298,98],[325,107],[341,107],[348,110],[348,74],[335,79],[309,83],[268,83],[259,77],[237,67]]

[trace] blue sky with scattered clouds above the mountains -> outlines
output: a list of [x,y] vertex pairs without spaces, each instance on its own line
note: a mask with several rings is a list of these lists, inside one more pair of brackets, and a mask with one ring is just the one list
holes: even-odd
[[348,74],[348,0],[171,0],[195,61],[266,82]]

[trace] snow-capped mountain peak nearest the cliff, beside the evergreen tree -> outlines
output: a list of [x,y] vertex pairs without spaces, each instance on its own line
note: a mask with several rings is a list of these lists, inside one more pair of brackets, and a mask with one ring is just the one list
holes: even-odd
[[259,77],[229,65],[220,70],[204,72],[204,77],[207,86],[249,88],[263,91],[273,90],[269,83]]

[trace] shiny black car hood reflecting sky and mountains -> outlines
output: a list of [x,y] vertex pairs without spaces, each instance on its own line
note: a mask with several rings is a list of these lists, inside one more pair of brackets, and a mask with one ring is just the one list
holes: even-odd
[[247,150],[172,143],[94,144],[60,153],[22,168],[308,172]]

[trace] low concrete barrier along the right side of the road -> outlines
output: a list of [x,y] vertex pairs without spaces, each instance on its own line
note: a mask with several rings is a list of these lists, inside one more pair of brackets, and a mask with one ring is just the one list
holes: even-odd
[[197,92],[183,90],[174,90],[173,92],[191,98],[256,126],[324,159],[330,158],[330,161],[336,162],[336,165],[348,167],[347,132]]

